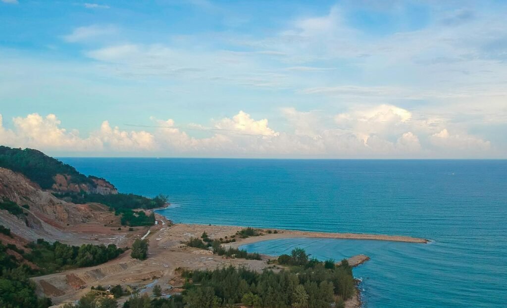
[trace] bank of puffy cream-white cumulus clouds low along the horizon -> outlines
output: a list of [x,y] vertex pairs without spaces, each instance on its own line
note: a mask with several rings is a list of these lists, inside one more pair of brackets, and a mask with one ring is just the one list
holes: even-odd
[[[200,138],[176,126],[173,119],[152,117],[154,125],[146,126],[151,132],[122,130],[103,121],[82,137],[77,130],[63,128],[53,114],[13,118],[11,129],[4,127],[0,115],[0,143],[69,154],[221,157],[422,157],[428,152],[465,157],[470,153],[484,156],[491,150],[490,142],[478,136],[451,134],[447,128],[437,132],[434,128],[419,129],[421,124],[413,121],[411,112],[393,105],[349,110],[334,117],[295,108],[284,108],[281,113],[288,131],[275,131],[267,119],[257,120],[240,111],[232,117],[210,120],[209,126],[185,126],[208,134]],[[385,130],[386,125],[396,129]]]

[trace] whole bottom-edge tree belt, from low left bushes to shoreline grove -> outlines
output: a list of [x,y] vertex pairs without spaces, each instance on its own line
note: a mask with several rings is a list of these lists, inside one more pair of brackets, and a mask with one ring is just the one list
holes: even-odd
[[[295,249],[286,256],[299,258],[295,262],[305,256],[308,258],[301,249]],[[332,260],[320,262],[310,259],[305,264],[294,265],[280,272],[266,270],[259,273],[232,266],[215,270],[184,270],[182,276],[186,283],[182,295],[161,298],[161,288],[156,285],[153,288],[155,298],[134,293],[123,308],[219,308],[240,305],[249,308],[343,308],[344,300],[355,292],[352,269],[346,260],[333,268],[327,268],[330,266],[328,263],[335,265]],[[103,290],[100,286],[95,289]],[[121,286],[115,286],[111,289],[115,298],[119,297],[115,289],[125,294]],[[65,308],[117,307],[114,298],[104,298],[89,293],[77,305],[67,304]]]

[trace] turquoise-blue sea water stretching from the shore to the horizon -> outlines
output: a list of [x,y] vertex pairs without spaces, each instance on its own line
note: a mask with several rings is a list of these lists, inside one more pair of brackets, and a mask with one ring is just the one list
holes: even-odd
[[247,245],[354,269],[365,307],[507,306],[506,160],[61,158],[122,192],[167,194],[174,222],[403,234],[430,244],[277,239]]

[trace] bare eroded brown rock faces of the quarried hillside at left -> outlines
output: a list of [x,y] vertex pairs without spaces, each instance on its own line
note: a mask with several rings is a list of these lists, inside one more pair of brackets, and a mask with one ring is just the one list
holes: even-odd
[[[66,179],[61,180],[61,187]],[[113,185],[106,181],[97,180],[97,188],[102,193],[118,193]],[[76,188],[72,185],[72,189]],[[79,189],[77,190],[80,191]],[[86,190],[85,190],[86,191]],[[90,191],[93,192],[93,191]],[[120,225],[119,216],[115,216],[106,206],[98,203],[74,204],[58,199],[50,191],[43,191],[22,174],[10,169],[0,168],[0,200],[10,199],[19,206],[25,206],[24,217],[17,217],[5,210],[0,210],[0,224],[11,229],[29,241],[46,238],[62,241],[65,239],[65,228],[82,223],[96,223],[98,225]]]

